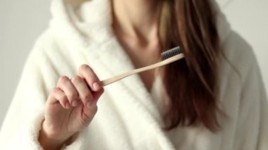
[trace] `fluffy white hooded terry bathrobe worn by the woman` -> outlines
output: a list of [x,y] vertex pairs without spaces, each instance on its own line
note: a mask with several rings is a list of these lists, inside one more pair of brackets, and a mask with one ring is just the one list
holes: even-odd
[[[138,75],[105,87],[98,113],[66,149],[268,149],[267,98],[252,49],[218,13],[224,55],[219,99],[227,118],[221,130],[161,129],[155,95]],[[54,0],[49,29],[37,40],[0,133],[0,149],[42,149],[38,134],[44,104],[60,75],[73,76],[89,64],[100,79],[133,69],[111,30],[109,0],[83,4]],[[161,84],[160,84],[161,85]],[[161,95],[160,95],[161,96]],[[159,97],[159,96],[156,96]]]

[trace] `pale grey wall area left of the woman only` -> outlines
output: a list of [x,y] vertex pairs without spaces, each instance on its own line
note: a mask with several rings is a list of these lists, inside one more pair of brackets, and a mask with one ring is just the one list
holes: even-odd
[[48,26],[50,0],[0,0],[0,127],[35,39]]

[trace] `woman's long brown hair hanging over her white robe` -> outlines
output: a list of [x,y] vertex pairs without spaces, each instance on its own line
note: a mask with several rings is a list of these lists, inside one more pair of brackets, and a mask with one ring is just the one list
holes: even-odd
[[210,0],[164,0],[159,20],[162,49],[181,46],[185,58],[164,68],[169,108],[166,130],[178,125],[219,129],[219,35]]

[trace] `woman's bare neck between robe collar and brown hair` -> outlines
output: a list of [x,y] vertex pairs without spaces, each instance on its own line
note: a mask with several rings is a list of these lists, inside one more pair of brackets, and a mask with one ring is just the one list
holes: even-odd
[[152,41],[158,35],[159,2],[113,0],[114,30],[126,37]]

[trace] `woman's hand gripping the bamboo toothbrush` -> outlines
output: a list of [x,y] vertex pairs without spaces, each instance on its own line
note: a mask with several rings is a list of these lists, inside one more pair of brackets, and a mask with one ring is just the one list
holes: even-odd
[[79,75],[71,79],[60,77],[45,106],[39,135],[44,149],[59,149],[76,132],[85,129],[97,113],[97,100],[103,92],[88,65],[81,65]]

